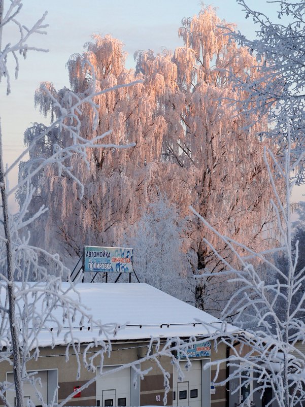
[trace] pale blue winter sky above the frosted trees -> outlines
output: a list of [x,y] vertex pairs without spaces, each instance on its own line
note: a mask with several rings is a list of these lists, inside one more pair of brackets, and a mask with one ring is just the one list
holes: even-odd
[[[48,11],[46,36],[35,36],[31,45],[49,49],[48,53],[30,52],[20,63],[18,81],[12,79],[12,93],[5,96],[0,85],[1,120],[4,134],[5,161],[11,163],[22,151],[23,132],[32,122],[46,122],[34,107],[34,92],[42,81],[53,82],[56,89],[69,87],[65,63],[69,56],[81,53],[92,33],[110,33],[125,44],[127,66],[133,67],[137,50],[163,47],[174,50],[182,45],[177,30],[183,17],[192,17],[200,10],[198,0],[24,0],[20,21],[30,26]],[[205,3],[209,4],[209,3]],[[245,20],[241,6],[235,0],[214,0],[217,14],[228,22],[235,22],[247,36],[255,36],[252,21]],[[265,0],[249,0],[253,8],[270,14],[275,5]],[[274,13],[276,17],[276,14]],[[9,30],[3,45],[13,43],[17,31]],[[30,43],[29,43],[30,44]],[[14,77],[12,65],[11,76]],[[10,182],[14,183],[16,174]],[[300,193],[295,199],[302,199]],[[15,207],[11,201],[12,209]]]

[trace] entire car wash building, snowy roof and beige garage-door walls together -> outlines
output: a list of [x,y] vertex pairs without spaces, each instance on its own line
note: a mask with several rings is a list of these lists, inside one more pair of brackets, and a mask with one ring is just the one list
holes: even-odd
[[[208,366],[210,361],[226,358],[226,347],[220,344],[217,350],[214,349],[206,339],[208,334],[205,325],[195,322],[202,320],[205,323],[218,324],[221,321],[147,284],[83,283],[77,288],[82,300],[85,303],[90,302],[93,316],[104,316],[106,322],[129,322],[111,338],[112,350],[109,357],[107,353],[104,355],[102,371],[100,372],[99,367],[101,362],[96,361],[96,371],[82,367],[79,379],[77,358],[72,349],[66,353],[66,344],[63,343],[63,336],[60,336],[62,333],[58,336],[55,346],[54,343],[48,343],[47,336],[42,337],[39,357],[27,362],[27,371],[33,372],[32,380],[40,378],[41,385],[37,384],[37,389],[43,402],[30,382],[24,382],[23,385],[25,401],[30,399],[35,406],[50,404],[52,400],[71,406],[163,405],[166,371],[169,374],[166,405],[228,406],[228,390],[226,386],[215,386],[213,380],[216,370],[213,370],[213,367],[211,370]],[[79,350],[81,358],[87,344],[94,340],[95,334],[86,327],[75,325],[74,329],[79,329],[82,334],[82,346]],[[168,337],[178,336],[185,341],[190,337],[197,340],[195,348],[192,345],[187,351],[190,366],[187,366],[187,361],[181,354],[175,355],[175,358],[180,360],[183,377],[179,377],[171,357],[158,356],[141,363],[141,370],[149,371],[140,380],[132,366],[140,368],[138,363],[149,351],[150,338],[158,338],[161,343],[165,343]],[[96,350],[98,348],[92,348],[92,353]],[[152,353],[154,351],[153,349]],[[2,363],[1,367],[0,382],[12,383],[6,397],[14,406],[16,402],[12,366]],[[100,373],[103,375],[100,376]],[[222,362],[218,382],[225,380],[226,374],[226,363]],[[78,392],[85,384],[87,385]],[[65,402],[71,393],[75,396]]]

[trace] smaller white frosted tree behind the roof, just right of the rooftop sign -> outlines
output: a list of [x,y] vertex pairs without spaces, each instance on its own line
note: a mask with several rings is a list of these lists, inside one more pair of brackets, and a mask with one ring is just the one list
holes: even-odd
[[142,283],[187,301],[194,296],[187,253],[183,252],[187,245],[185,226],[176,205],[159,193],[147,212],[126,231],[123,242],[133,247],[133,266]]

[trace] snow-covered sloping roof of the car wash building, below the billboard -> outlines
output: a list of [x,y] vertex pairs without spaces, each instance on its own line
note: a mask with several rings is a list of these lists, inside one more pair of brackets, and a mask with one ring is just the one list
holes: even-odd
[[[69,288],[68,283],[62,283],[61,287]],[[36,285],[37,286],[37,285]],[[201,311],[171,295],[168,295],[148,284],[140,283],[78,283],[76,289],[80,295],[81,303],[87,307],[87,314],[93,320],[100,320],[107,326],[111,340],[145,340],[150,337],[189,337],[208,336],[217,327],[221,327],[221,321],[212,315]],[[69,296],[77,300],[75,293],[69,292]],[[30,295],[28,295],[30,298]],[[22,307],[21,307],[22,308]],[[19,303],[19,309],[20,303]],[[62,319],[60,307],[52,312],[58,314],[56,319]],[[201,322],[203,323],[201,323]],[[112,333],[115,325],[124,325]],[[211,324],[207,327],[205,324]],[[65,324],[64,324],[65,325]],[[90,327],[86,321],[80,329],[80,318],[77,316],[73,336],[82,343],[92,340],[104,339],[106,335],[100,335],[99,329]],[[39,333],[39,346],[60,345],[67,342],[67,328],[57,331],[54,321],[47,321],[46,329]],[[215,328],[214,328],[215,327]],[[35,329],[35,328],[32,328]],[[237,331],[236,327],[227,325],[227,331]]]

